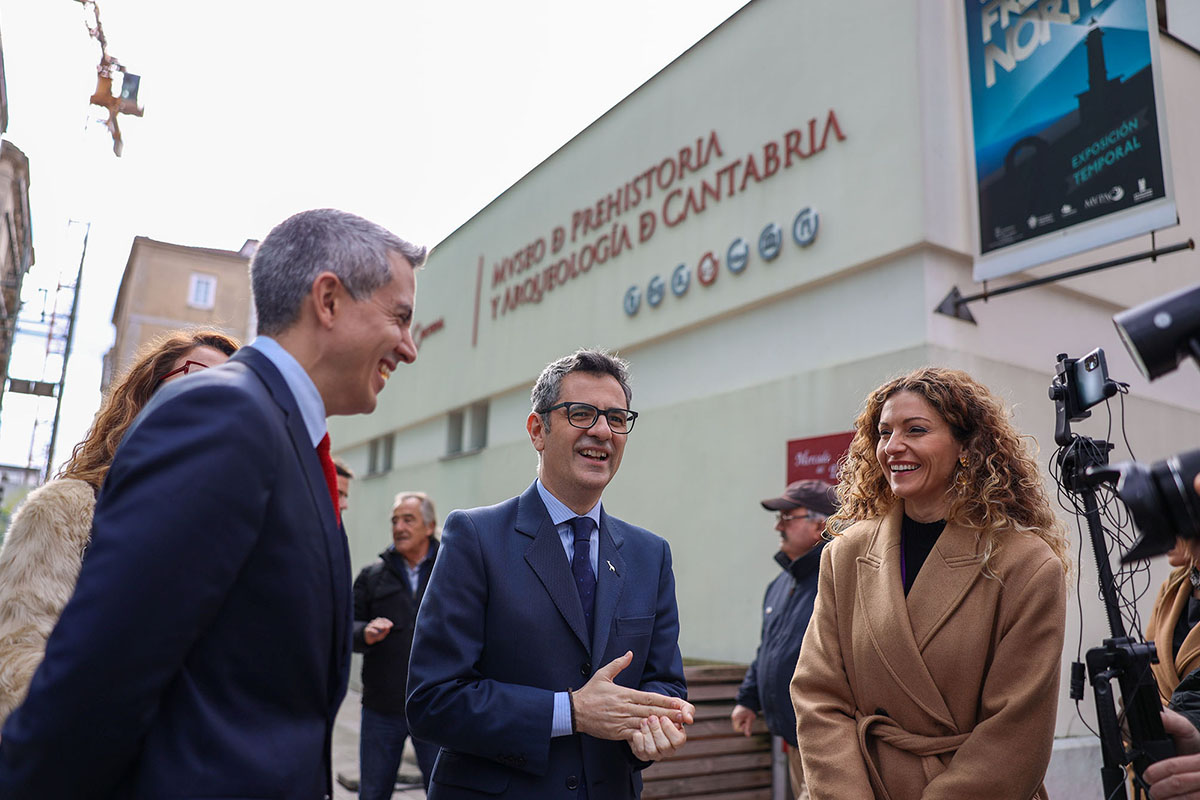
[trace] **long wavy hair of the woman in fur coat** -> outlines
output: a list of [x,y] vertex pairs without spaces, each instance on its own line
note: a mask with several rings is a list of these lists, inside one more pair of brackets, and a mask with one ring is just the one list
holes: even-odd
[[58,477],[84,481],[98,492],[113,463],[116,445],[121,444],[130,425],[150,402],[163,375],[174,368],[180,357],[199,347],[233,355],[238,342],[221,331],[200,329],[166,333],[143,347],[133,365],[109,387],[88,435],[74,446]]

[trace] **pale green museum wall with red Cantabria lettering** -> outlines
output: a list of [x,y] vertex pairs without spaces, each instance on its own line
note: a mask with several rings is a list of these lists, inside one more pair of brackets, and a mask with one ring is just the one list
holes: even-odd
[[[670,540],[680,646],[697,658],[746,662],[754,655],[762,591],[778,572],[770,559],[778,535],[758,500],[782,488],[787,440],[850,429],[865,393],[898,372],[924,363],[970,371],[1012,403],[1016,425],[1036,437],[1046,464],[1055,356],[1103,345],[1112,375],[1132,384],[1124,421],[1138,457],[1200,444],[1200,372],[1186,365],[1146,384],[1111,324],[1116,311],[1194,282],[1195,252],[972,305],[977,325],[932,312],[952,287],[978,290],[955,6],[756,0],[438,245],[419,276],[416,319],[443,326],[425,339],[418,363],[392,377],[373,415],[331,425],[335,447],[361,473],[371,440],[395,435],[391,470],[354,489],[347,529],[355,566],[388,543],[390,501],[400,489],[430,492],[444,517],[528,486],[536,468],[524,433],[529,386],[546,362],[580,345],[617,348],[632,362],[634,407],[643,416],[605,506]],[[1200,109],[1190,100],[1200,92],[1200,55],[1165,38],[1162,50],[1184,224],[1162,231],[1160,245],[1195,235],[1200,212]],[[841,136],[824,137],[820,149],[830,112]],[[815,151],[740,191],[749,155],[766,173],[764,146],[782,148],[792,130],[808,149],[809,120]],[[648,200],[620,205],[614,219],[571,241],[572,212],[623,192],[680,148],[691,145],[694,155],[697,138],[703,149],[714,132],[721,155],[714,151],[703,169],[667,191],[702,192],[702,181],[722,169],[734,169],[737,191],[668,225],[666,191],[655,186]],[[738,160],[743,166],[731,167]],[[820,212],[820,233],[806,247],[791,235],[804,207]],[[672,209],[678,204],[667,216]],[[658,224],[642,241],[640,215],[648,210]],[[769,222],[784,229],[778,258],[755,252],[742,272],[731,272],[731,242],[740,236],[752,247]],[[628,225],[631,242],[618,255],[544,287],[539,302],[504,311],[505,293],[511,297],[514,287],[570,253],[578,259],[584,245],[611,239],[614,224],[618,236]],[[558,227],[565,242],[553,253]],[[536,255],[539,240],[541,260],[505,277],[505,254],[532,243]],[[1141,236],[1012,281],[1148,247]],[[709,251],[720,269],[712,285],[702,285],[697,265]],[[650,307],[650,279],[670,281],[680,263],[691,271],[686,293],[668,288]],[[630,287],[642,294],[632,315],[623,309]],[[480,401],[488,403],[487,446],[446,457],[448,413]],[[1116,401],[1112,409],[1116,431]],[[1076,427],[1104,437],[1106,421],[1099,409]],[[1114,458],[1127,457],[1122,444]],[[1074,519],[1063,521],[1078,545]],[[1156,564],[1146,585],[1157,588],[1164,573]],[[1070,578],[1064,663],[1075,658],[1080,633],[1087,645],[1106,634],[1094,576],[1085,559]],[[1152,600],[1153,591],[1142,597],[1142,615]],[[1058,733],[1082,734],[1067,672]]]

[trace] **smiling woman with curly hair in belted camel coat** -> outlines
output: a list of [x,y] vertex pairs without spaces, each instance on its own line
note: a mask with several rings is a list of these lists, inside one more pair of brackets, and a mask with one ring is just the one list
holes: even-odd
[[924,367],[856,420],[792,679],[811,796],[1046,796],[1067,539],[1003,403]]

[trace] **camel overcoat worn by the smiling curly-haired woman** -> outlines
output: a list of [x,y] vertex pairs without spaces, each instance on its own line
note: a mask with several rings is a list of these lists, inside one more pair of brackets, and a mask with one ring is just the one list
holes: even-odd
[[1066,622],[1062,563],[1003,534],[982,570],[947,525],[905,597],[900,504],[824,549],[792,679],[814,800],[1044,799]]

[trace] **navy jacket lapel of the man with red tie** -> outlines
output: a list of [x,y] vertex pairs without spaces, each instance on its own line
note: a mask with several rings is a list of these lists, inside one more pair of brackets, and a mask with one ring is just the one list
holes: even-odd
[[304,474],[308,494],[312,497],[317,510],[317,518],[320,521],[322,537],[325,543],[326,564],[329,565],[331,604],[334,609],[334,657],[335,669],[332,670],[330,691],[335,703],[341,703],[341,694],[344,692],[346,678],[349,669],[350,648],[350,554],[346,533],[337,522],[334,505],[330,503],[329,487],[325,483],[325,473],[320,467],[320,458],[308,437],[308,428],[305,427],[300,407],[296,405],[292,390],[280,371],[271,363],[270,359],[251,347],[245,347],[234,354],[233,359],[245,361],[246,365],[263,380],[271,397],[283,411],[287,422],[288,437],[292,439],[292,447],[295,451]]

